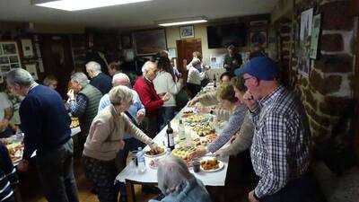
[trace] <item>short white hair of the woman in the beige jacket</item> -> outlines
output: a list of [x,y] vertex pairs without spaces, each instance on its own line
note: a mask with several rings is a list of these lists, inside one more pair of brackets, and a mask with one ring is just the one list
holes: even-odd
[[118,85],[109,91],[109,101],[113,105],[120,105],[122,102],[132,101],[132,92],[127,86]]

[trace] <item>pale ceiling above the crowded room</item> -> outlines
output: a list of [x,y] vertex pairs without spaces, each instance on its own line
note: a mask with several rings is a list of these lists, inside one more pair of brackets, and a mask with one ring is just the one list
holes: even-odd
[[206,16],[208,20],[215,20],[271,13],[276,2],[277,0],[153,0],[66,12],[31,5],[31,0],[0,0],[0,21],[127,28],[152,26],[154,21],[183,17]]

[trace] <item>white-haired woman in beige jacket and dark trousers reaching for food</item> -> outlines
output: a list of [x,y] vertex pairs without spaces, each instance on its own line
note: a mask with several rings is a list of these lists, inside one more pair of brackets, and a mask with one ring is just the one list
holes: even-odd
[[118,175],[116,154],[123,149],[125,133],[157,150],[153,140],[138,129],[125,115],[132,104],[132,92],[126,86],[116,86],[109,91],[111,104],[93,119],[89,136],[83,148],[83,167],[86,177],[92,181],[100,202],[117,202],[118,187],[114,180]]

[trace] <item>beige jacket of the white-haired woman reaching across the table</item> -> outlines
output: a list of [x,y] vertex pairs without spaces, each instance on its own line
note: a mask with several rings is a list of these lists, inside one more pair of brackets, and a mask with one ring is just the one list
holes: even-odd
[[89,135],[83,148],[83,155],[101,161],[115,159],[118,150],[123,149],[125,133],[134,136],[146,145],[152,139],[138,129],[125,113],[117,114],[112,105],[109,105],[93,119]]

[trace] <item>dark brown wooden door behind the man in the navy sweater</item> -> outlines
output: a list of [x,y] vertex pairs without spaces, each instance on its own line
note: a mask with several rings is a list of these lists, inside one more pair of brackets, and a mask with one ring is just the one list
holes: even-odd
[[44,63],[44,74],[54,75],[57,78],[57,92],[66,99],[67,83],[74,70],[70,40],[67,35],[39,35],[39,45]]

